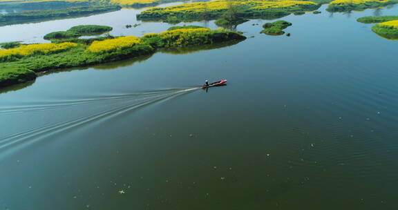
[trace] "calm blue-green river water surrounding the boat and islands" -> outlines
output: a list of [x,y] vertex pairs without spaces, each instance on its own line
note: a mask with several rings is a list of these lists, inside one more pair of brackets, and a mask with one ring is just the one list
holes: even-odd
[[[357,23],[375,10],[321,11],[283,18],[291,37],[251,20],[238,44],[4,90],[0,209],[397,209],[398,42]],[[114,32],[169,24],[139,27]],[[205,79],[228,82],[205,91]]]

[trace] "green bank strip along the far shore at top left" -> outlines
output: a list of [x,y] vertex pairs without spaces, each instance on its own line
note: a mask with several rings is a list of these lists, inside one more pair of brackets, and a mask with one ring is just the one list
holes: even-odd
[[57,10],[33,10],[0,15],[0,26],[60,18],[81,17],[120,10],[120,6],[80,6]]

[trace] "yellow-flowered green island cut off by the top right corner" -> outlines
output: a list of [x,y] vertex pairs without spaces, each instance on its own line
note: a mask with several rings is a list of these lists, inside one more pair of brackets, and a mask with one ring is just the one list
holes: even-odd
[[334,0],[330,2],[328,12],[362,11],[398,3],[397,0]]

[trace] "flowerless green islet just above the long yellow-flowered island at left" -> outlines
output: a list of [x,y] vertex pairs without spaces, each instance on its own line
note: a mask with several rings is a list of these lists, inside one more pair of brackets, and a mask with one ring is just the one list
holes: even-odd
[[44,39],[71,39],[81,36],[101,35],[104,32],[111,31],[112,29],[113,28],[109,26],[80,25],[74,26],[67,31],[50,32],[44,36]]

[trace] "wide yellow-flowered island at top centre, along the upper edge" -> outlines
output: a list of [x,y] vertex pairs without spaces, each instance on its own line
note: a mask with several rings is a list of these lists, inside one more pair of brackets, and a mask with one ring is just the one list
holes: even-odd
[[166,8],[152,8],[137,15],[141,20],[176,19],[178,21],[194,21],[199,19],[218,19],[234,8],[237,18],[278,18],[290,15],[297,11],[313,11],[320,7],[312,1],[262,1],[242,0],[228,1],[215,0],[208,2],[185,3]]

